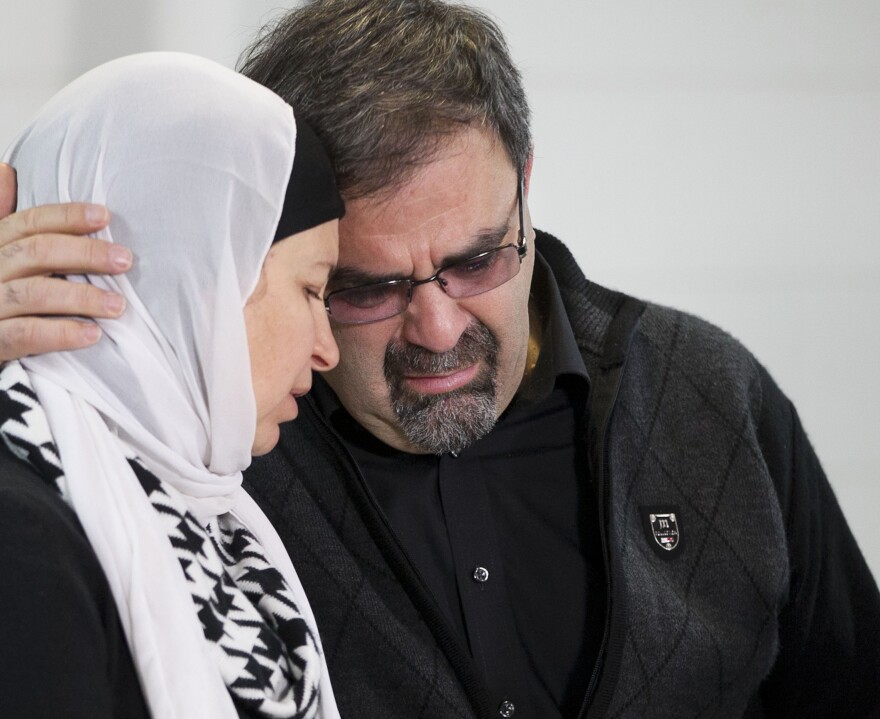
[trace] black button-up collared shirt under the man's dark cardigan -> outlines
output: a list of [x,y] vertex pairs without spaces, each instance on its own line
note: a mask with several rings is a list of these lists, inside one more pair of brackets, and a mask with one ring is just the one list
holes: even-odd
[[517,719],[577,716],[605,612],[589,378],[540,255],[532,295],[538,362],[492,432],[457,457],[394,450],[319,400],[499,715]]

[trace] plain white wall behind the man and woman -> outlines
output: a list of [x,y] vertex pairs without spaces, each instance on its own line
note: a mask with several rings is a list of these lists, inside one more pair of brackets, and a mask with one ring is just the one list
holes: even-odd
[[[93,65],[232,66],[268,0],[0,0],[0,146]],[[880,577],[880,4],[482,0],[534,113],[535,224],[700,314],[794,400]]]

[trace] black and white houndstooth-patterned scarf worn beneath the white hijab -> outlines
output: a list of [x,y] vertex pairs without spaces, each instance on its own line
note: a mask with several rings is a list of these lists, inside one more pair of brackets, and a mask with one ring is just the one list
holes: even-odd
[[[17,362],[0,370],[0,436],[70,503],[46,414]],[[202,527],[173,487],[136,457],[128,462],[168,535],[235,704],[254,716],[315,717],[320,647],[257,539],[232,513]]]

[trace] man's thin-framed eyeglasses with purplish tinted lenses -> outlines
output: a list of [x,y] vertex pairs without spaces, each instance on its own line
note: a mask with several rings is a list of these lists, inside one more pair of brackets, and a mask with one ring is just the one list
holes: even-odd
[[324,298],[324,307],[334,322],[362,325],[387,320],[403,312],[412,301],[413,290],[419,285],[436,282],[454,299],[475,297],[500,287],[519,274],[528,253],[523,221],[523,178],[516,188],[519,205],[519,234],[516,244],[502,245],[487,252],[452,262],[424,280],[400,279],[349,287],[331,292]]

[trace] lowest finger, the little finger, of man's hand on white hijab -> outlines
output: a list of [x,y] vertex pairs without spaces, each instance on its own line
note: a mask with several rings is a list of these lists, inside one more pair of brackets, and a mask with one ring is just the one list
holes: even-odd
[[0,322],[0,362],[95,344],[101,328],[80,320],[25,317]]

